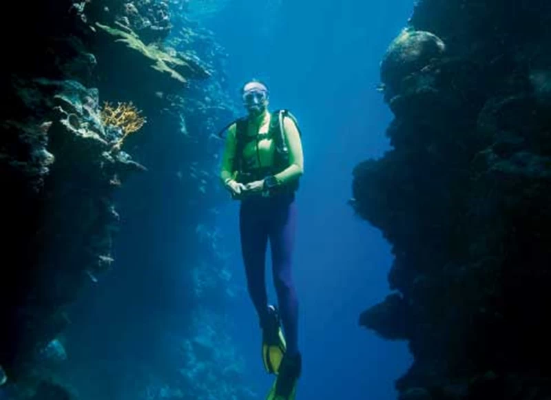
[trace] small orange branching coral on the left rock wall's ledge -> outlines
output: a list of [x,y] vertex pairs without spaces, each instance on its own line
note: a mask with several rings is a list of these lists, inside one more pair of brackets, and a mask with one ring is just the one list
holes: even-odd
[[123,136],[117,140],[114,149],[120,149],[123,140],[135,131],[138,131],[146,123],[146,118],[140,115],[141,112],[134,107],[132,101],[129,103],[119,102],[116,107],[105,102],[101,110],[103,125],[120,128]]

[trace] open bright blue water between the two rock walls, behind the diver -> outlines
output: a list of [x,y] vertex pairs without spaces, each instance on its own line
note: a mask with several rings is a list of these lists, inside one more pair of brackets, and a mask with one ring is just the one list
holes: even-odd
[[[240,0],[207,21],[230,56],[230,87],[237,94],[250,78],[267,82],[270,108],[291,109],[303,134],[294,266],[303,354],[299,399],[395,399],[394,381],[411,363],[406,344],[357,324],[362,310],[388,293],[392,257],[380,232],[355,218],[346,201],[353,167],[388,149],[391,114],[375,90],[379,63],[412,10],[413,0]],[[238,204],[223,207],[218,227],[234,250],[234,280],[245,288]],[[263,394],[271,377],[260,364],[258,321],[245,289],[231,313],[249,379]]]

